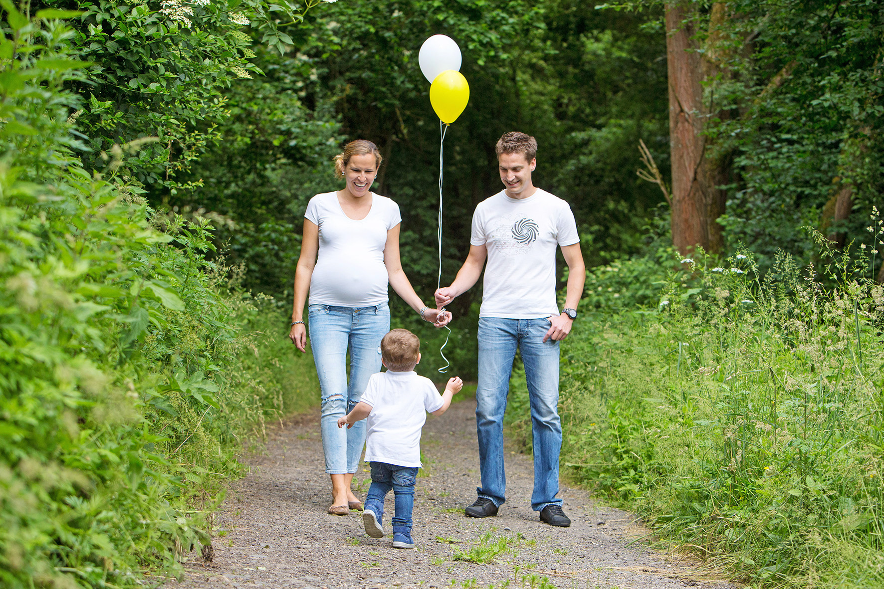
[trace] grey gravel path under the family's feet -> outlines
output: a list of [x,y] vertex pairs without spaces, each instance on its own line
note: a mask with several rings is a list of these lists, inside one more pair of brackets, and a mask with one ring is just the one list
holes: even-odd
[[[187,562],[186,577],[165,587],[736,589],[678,555],[645,547],[639,539],[647,532],[629,513],[598,505],[583,490],[562,486],[570,528],[541,524],[530,509],[531,456],[512,447],[509,499],[498,516],[464,516],[479,481],[475,409],[467,398],[444,416],[427,418],[414,550],[392,548],[390,537],[369,538],[358,512],[326,513],[331,495],[319,418],[302,415],[269,434],[266,454],[253,459],[252,474],[228,493],[216,518],[212,562]],[[354,478],[362,498],[370,484],[367,466]],[[387,529],[392,511],[391,492]]]

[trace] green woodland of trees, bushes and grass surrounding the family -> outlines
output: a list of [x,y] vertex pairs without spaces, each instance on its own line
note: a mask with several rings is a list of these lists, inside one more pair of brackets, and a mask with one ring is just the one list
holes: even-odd
[[[436,287],[438,119],[461,47],[442,280],[500,134],[537,137],[588,264],[563,464],[766,586],[880,586],[884,12],[876,0],[0,0],[0,584],[133,585],[210,554],[268,422],[309,198],[356,138]],[[644,146],[644,147],[643,147]],[[446,355],[475,376],[481,290]],[[392,297],[431,360],[446,334]],[[527,393],[518,370],[510,429]],[[665,432],[665,434],[664,434]]]

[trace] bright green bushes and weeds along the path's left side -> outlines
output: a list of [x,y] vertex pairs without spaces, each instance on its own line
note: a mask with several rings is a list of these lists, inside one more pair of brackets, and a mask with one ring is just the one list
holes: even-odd
[[240,363],[264,315],[206,259],[207,218],[156,214],[126,178],[139,144],[103,175],[74,156],[71,14],[2,6],[0,584],[134,585],[210,542],[240,440],[297,391],[277,402],[271,357]]

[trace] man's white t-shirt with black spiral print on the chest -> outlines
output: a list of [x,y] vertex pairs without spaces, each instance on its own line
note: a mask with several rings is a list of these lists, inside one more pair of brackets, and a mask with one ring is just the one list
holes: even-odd
[[559,314],[555,249],[580,242],[567,202],[540,188],[522,199],[501,190],[476,206],[469,242],[488,249],[479,317]]

